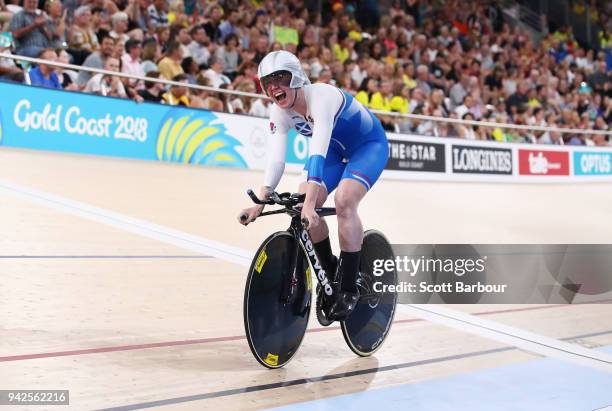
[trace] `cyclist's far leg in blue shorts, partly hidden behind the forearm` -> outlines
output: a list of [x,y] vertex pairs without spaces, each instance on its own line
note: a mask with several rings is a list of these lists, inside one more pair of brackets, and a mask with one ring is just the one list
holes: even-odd
[[[342,162],[342,156],[335,150],[329,150],[325,157],[323,167],[323,184],[319,188],[319,194],[316,201],[316,207],[322,207],[329,193],[334,191],[338,186],[338,182],[344,172],[345,164]],[[304,176],[304,180],[306,176]],[[300,184],[300,193],[306,191],[307,182]],[[321,218],[319,225],[315,229],[308,230],[312,239],[317,258],[321,263],[321,267],[330,276],[334,276],[336,272],[337,258],[334,256],[329,241],[329,228],[325,218]]]

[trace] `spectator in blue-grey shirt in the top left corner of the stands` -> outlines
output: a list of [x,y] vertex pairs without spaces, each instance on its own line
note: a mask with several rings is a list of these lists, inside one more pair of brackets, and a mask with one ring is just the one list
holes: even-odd
[[38,0],[24,0],[23,10],[11,18],[9,30],[16,41],[18,55],[36,57],[51,46],[53,29],[37,6]]

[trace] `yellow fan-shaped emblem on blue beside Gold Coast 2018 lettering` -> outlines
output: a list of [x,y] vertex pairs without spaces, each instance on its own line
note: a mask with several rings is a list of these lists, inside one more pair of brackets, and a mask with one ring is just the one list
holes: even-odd
[[163,161],[247,168],[236,147],[242,143],[229,136],[216,114],[173,109],[164,116],[157,133],[157,158]]

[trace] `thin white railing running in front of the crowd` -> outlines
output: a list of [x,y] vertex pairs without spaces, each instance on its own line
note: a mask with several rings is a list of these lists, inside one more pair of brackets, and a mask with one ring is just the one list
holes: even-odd
[[[26,61],[28,63],[35,63],[35,64],[46,64],[49,66],[60,67],[60,68],[69,69],[69,70],[87,71],[87,72],[96,73],[96,74],[101,73],[101,74],[105,74],[109,76],[123,77],[123,78],[131,79],[131,80],[155,82],[155,83],[165,84],[168,86],[182,86],[182,87],[187,87],[187,88],[194,89],[194,90],[208,91],[208,92],[213,92],[213,93],[224,93],[224,94],[231,94],[231,95],[242,96],[242,97],[268,99],[268,97],[263,94],[248,93],[245,91],[228,90],[228,89],[222,89],[222,88],[201,86],[197,84],[189,84],[189,83],[177,82],[177,81],[172,81],[172,80],[166,80],[163,78],[143,77],[143,76],[137,76],[134,74],[127,74],[127,73],[121,73],[121,72],[116,72],[116,71],[108,71],[108,70],[97,69],[93,67],[84,67],[84,66],[77,66],[74,64],[60,63],[57,61],[42,60],[42,59],[33,58],[33,57],[17,56],[17,55],[12,55],[12,54],[0,53],[0,58],[8,58],[8,59],[17,60],[17,61]],[[532,130],[532,131],[544,131],[544,132],[548,131],[548,132],[568,133],[568,134],[599,134],[599,135],[604,135],[604,136],[612,136],[612,131],[605,131],[605,130],[585,130],[585,129],[578,129],[578,128],[527,126],[527,125],[520,125],[520,124],[496,123],[496,122],[490,122],[490,121],[476,121],[476,120],[463,120],[463,119],[448,118],[448,117],[434,117],[434,116],[426,116],[426,115],[420,115],[420,114],[400,114],[396,112],[387,112],[387,111],[379,111],[379,110],[371,110],[371,111],[381,116],[415,119],[415,120],[425,120],[425,121],[437,121],[441,123],[466,124],[466,125],[473,125],[473,126],[514,129],[514,130]]]

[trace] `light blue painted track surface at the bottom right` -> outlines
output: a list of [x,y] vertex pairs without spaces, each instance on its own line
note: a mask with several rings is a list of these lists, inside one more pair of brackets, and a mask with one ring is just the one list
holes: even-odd
[[[612,353],[612,346],[601,350]],[[275,410],[592,411],[606,406],[612,406],[612,374],[545,358]]]

